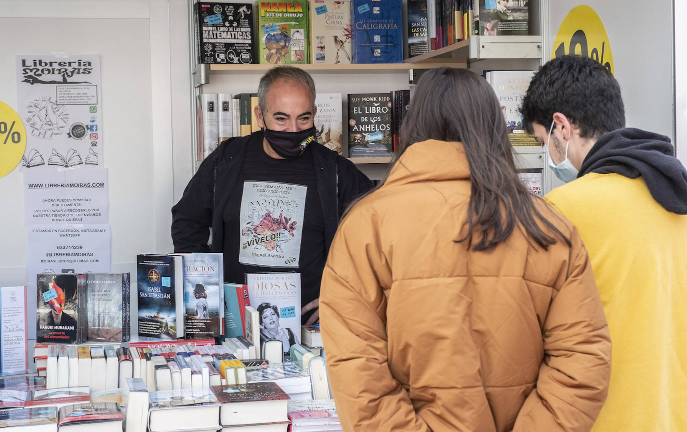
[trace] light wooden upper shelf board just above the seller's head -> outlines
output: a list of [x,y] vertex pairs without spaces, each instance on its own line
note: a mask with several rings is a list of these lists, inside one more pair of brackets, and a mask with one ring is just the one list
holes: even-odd
[[[432,69],[433,67],[466,67],[466,63],[447,59],[436,63],[355,63],[337,65],[294,65],[311,74],[388,74],[407,72],[410,69]],[[210,65],[211,74],[262,74],[274,65]]]

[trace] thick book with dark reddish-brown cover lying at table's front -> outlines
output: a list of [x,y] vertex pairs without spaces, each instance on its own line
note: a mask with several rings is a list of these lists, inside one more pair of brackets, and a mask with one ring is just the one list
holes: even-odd
[[222,403],[223,431],[284,432],[289,424],[289,396],[274,382],[223,385],[211,390]]

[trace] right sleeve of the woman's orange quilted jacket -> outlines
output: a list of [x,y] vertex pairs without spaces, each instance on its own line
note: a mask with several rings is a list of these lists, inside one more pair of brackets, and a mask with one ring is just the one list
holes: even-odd
[[592,429],[608,393],[611,340],[587,250],[576,228],[567,269],[543,325],[544,361],[515,432]]

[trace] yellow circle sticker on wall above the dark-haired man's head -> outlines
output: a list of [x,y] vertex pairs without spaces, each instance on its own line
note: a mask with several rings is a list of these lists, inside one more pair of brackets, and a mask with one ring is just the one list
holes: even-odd
[[568,12],[554,41],[551,58],[577,54],[594,58],[613,74],[613,55],[606,28],[600,17],[587,5]]

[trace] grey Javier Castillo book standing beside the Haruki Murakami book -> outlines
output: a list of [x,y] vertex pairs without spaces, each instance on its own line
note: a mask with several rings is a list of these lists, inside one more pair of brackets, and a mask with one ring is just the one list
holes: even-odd
[[129,273],[87,273],[85,309],[89,342],[128,342],[124,336]]

